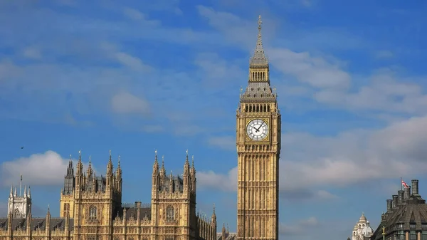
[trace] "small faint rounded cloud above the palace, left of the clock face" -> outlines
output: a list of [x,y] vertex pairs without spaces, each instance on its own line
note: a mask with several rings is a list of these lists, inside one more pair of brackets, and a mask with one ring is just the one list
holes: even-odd
[[111,99],[111,107],[115,113],[137,113],[144,116],[150,113],[147,100],[126,92],[114,95]]

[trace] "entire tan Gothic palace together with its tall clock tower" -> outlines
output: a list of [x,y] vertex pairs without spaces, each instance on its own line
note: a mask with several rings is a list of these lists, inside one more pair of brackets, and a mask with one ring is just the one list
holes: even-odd
[[84,171],[81,155],[75,168],[70,160],[59,218],[49,211],[33,218],[30,189],[21,195],[11,188],[0,240],[277,240],[281,120],[260,30],[259,18],[248,85],[236,113],[236,234],[224,226],[217,234],[215,208],[210,218],[196,213],[196,169],[188,152],[181,176],[167,174],[156,152],[150,204],[122,204],[120,158],[114,170],[110,153],[105,176],[96,175],[90,163]]

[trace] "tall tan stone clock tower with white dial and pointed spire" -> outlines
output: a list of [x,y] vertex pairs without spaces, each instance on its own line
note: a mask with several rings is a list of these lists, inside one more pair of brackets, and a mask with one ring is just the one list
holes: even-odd
[[249,65],[248,86],[237,110],[237,238],[278,239],[280,111],[270,87],[261,39]]

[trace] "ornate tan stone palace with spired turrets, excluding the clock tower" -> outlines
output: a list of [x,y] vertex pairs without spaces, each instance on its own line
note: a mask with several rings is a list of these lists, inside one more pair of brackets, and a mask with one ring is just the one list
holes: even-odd
[[[25,195],[26,193],[24,193]],[[28,192],[29,194],[29,192]],[[60,193],[60,217],[0,219],[0,240],[216,240],[215,209],[211,218],[196,214],[196,169],[188,152],[181,176],[166,174],[157,152],[152,172],[150,204],[122,204],[120,157],[113,171],[111,154],[105,176],[89,163],[83,172],[81,155],[76,173],[70,160]]]

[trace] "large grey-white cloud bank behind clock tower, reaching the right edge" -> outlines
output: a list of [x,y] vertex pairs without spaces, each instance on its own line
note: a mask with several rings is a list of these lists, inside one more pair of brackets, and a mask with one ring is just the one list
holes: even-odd
[[[349,130],[331,137],[283,132],[280,196],[330,199],[322,187],[413,176],[427,170],[427,117],[394,122],[381,130]],[[237,169],[199,172],[201,187],[236,191]],[[292,182],[292,184],[290,184]]]

